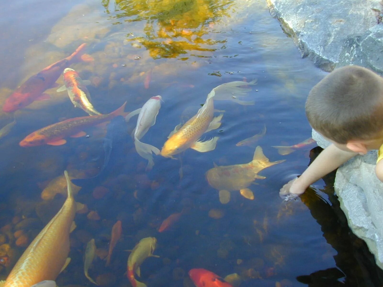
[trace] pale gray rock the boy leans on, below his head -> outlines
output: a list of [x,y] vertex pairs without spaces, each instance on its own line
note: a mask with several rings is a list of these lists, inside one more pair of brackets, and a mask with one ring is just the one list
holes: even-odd
[[[330,145],[315,130],[312,136],[320,147]],[[375,175],[376,158],[374,150],[340,166],[334,189],[351,230],[367,243],[383,269],[383,183]]]

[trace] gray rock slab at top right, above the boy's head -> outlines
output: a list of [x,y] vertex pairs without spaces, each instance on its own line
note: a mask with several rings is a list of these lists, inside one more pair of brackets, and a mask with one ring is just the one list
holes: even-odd
[[363,61],[359,47],[364,47],[363,51],[367,52],[369,42],[381,39],[380,27],[375,28],[380,26],[376,19],[383,9],[380,0],[266,2],[270,13],[280,21],[282,29],[291,36],[302,56],[310,57],[327,72],[332,71],[338,62],[352,64],[350,58]]

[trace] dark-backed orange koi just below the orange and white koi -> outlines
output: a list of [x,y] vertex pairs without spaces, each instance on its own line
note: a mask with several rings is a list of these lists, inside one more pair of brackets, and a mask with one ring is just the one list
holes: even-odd
[[98,116],[75,117],[67,119],[50,126],[43,127],[35,132],[27,135],[19,145],[21,147],[34,147],[37,145],[63,145],[67,141],[65,137],[82,137],[86,135],[83,129],[90,126],[95,126],[106,121],[110,121],[116,116],[125,117],[128,113],[124,112],[126,102],[110,114]]

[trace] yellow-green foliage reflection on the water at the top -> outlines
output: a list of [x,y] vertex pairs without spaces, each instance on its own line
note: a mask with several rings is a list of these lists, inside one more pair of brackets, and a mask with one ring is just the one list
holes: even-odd
[[106,13],[110,13],[110,1],[121,13],[108,20],[129,17],[124,22],[146,21],[145,36],[133,36],[128,41],[139,42],[154,59],[175,58],[187,51],[216,51],[210,46],[226,41],[203,37],[223,16],[230,17],[228,9],[233,5],[233,0],[102,0]]

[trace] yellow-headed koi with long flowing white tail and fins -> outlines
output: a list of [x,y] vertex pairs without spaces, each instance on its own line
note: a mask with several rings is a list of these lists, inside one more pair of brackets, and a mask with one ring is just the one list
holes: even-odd
[[[243,95],[248,88],[239,88],[244,85],[255,85],[255,81],[250,83],[234,81],[217,86],[206,98],[205,104],[198,110],[195,116],[191,117],[182,127],[177,126],[169,135],[169,139],[164,143],[161,150],[163,157],[173,157],[177,153],[192,148],[198,152],[209,152],[214,150],[219,137],[213,137],[205,142],[200,140],[201,135],[210,130],[218,129],[221,126],[223,114],[213,118],[214,104],[213,97],[218,99],[228,99],[228,96]],[[179,128],[178,128],[179,127]]]

